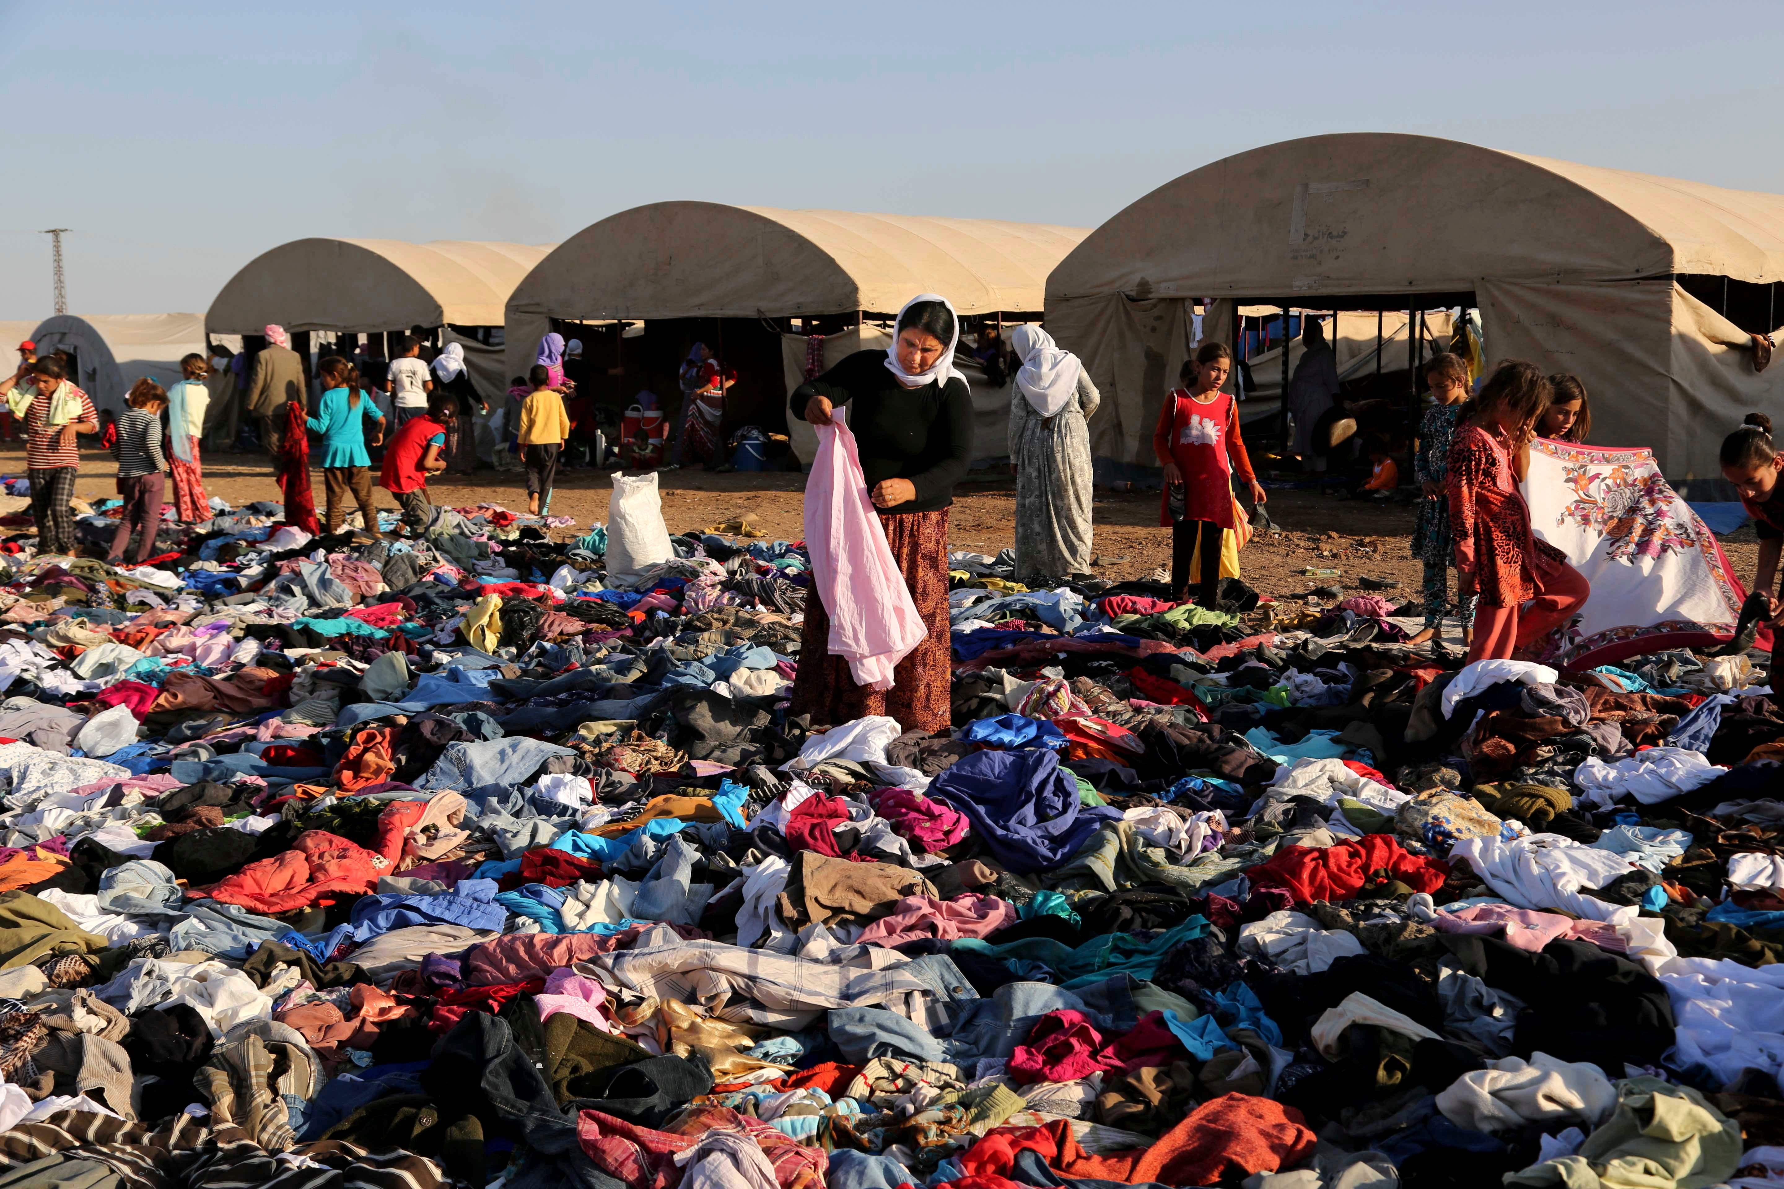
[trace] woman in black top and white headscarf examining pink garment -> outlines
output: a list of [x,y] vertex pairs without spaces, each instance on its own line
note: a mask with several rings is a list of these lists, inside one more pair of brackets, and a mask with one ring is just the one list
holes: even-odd
[[949,726],[947,510],[972,462],[972,392],[954,369],[960,324],[944,298],[921,294],[899,310],[892,348],[856,351],[794,389],[790,412],[831,424],[838,405],[862,458],[887,544],[929,635],[897,663],[892,688],[865,690],[830,654],[830,615],[806,597],[792,713],[812,724],[888,715],[906,731]]

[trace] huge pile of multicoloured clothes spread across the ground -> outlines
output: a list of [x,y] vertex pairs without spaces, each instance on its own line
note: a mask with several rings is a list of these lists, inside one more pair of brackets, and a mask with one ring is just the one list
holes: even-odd
[[960,554],[953,729],[814,731],[801,547],[542,528],[9,560],[0,1185],[1784,1178],[1754,658]]

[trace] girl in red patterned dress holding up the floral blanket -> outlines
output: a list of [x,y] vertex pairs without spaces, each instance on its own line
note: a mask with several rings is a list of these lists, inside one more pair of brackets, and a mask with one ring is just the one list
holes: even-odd
[[1552,390],[1534,364],[1500,364],[1450,444],[1447,496],[1456,569],[1481,594],[1468,663],[1529,651],[1586,604],[1591,585],[1531,531],[1513,478]]

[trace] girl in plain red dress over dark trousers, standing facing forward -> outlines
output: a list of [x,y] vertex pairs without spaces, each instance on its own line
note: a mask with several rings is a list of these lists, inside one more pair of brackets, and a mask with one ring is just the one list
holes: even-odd
[[1183,385],[1165,398],[1152,431],[1152,453],[1165,467],[1165,497],[1158,522],[1170,528],[1170,594],[1188,601],[1190,563],[1199,565],[1195,601],[1213,608],[1220,592],[1220,544],[1238,528],[1233,472],[1251,487],[1251,497],[1267,496],[1251,471],[1245,442],[1238,433],[1238,405],[1222,392],[1233,353],[1224,342],[1204,342],[1183,364]]

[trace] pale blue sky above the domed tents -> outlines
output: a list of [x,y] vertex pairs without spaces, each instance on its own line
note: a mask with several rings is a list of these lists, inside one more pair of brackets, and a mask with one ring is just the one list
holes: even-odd
[[[0,0],[0,319],[198,310],[303,235],[553,242],[665,198],[1095,226],[1424,132],[1784,191],[1764,4]],[[39,155],[48,173],[25,171]]]

